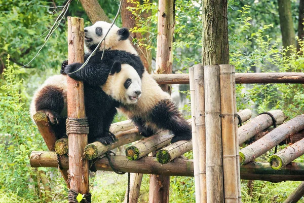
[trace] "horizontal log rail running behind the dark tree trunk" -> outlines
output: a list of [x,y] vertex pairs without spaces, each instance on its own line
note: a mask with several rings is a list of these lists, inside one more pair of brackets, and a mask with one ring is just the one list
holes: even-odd
[[[159,84],[189,84],[188,74],[155,74]],[[304,73],[236,73],[237,84],[304,83]]]

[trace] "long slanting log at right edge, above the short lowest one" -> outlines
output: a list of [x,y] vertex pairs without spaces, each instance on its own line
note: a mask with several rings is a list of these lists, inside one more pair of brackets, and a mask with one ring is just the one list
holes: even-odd
[[263,138],[240,150],[240,163],[246,164],[253,161],[280,142],[288,138],[291,134],[304,129],[304,114],[299,115],[286,123],[283,123]]

